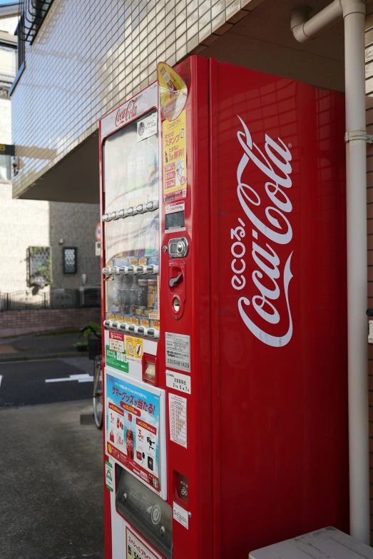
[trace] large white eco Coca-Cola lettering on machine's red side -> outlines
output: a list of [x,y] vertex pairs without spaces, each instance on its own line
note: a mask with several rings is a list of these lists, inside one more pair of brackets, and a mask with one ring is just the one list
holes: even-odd
[[[292,203],[287,195],[292,186],[292,155],[280,138],[275,141],[267,134],[264,153],[252,141],[245,122],[240,116],[238,119],[243,131],[237,131],[237,139],[244,153],[237,167],[237,197],[245,216],[238,218],[237,226],[230,230],[230,238],[234,241],[231,283],[235,290],[245,288],[245,293],[250,293],[250,298],[241,296],[237,303],[245,326],[258,340],[279,348],[292,338],[289,302]],[[252,164],[263,173],[263,184],[256,189],[249,184]],[[242,242],[247,235],[252,237],[250,278],[245,274],[247,243]],[[285,246],[288,248],[284,257]],[[278,252],[282,253],[282,258]]]

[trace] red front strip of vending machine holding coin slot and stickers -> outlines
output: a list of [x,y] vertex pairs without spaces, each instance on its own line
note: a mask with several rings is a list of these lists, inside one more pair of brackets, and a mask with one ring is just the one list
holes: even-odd
[[[175,559],[212,559],[208,59],[192,56],[175,70],[188,99],[180,119],[162,122],[159,375],[168,401],[168,494]],[[172,193],[180,158],[186,182],[181,177]]]

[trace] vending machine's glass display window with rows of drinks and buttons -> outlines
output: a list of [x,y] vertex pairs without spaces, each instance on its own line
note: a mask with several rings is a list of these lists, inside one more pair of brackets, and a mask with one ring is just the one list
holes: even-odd
[[122,330],[156,337],[160,327],[157,111],[148,111],[106,139],[103,177],[106,320],[117,327],[125,325]]

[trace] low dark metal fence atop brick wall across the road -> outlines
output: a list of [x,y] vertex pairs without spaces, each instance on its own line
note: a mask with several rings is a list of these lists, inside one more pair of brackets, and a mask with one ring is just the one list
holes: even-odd
[[78,289],[53,289],[32,294],[31,291],[0,293],[1,311],[31,311],[39,308],[90,308],[101,306],[100,286]]

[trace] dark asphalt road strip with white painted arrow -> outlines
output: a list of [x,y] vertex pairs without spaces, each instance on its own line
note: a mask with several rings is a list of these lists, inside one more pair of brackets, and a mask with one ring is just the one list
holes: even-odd
[[92,391],[88,358],[0,363],[0,408],[83,400]]

